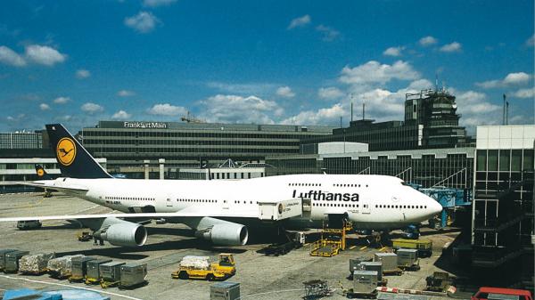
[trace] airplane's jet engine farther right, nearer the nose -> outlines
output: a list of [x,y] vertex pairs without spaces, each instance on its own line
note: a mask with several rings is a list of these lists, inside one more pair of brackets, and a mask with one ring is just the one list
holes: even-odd
[[242,224],[217,220],[210,227],[195,231],[195,236],[216,245],[242,246],[247,243],[249,232]]

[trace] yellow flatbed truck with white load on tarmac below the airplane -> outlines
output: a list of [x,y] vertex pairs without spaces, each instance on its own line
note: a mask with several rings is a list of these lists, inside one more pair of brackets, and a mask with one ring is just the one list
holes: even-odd
[[219,254],[219,262],[210,264],[208,256],[185,256],[176,272],[171,273],[174,279],[194,280],[226,280],[236,272],[234,256],[229,253]]

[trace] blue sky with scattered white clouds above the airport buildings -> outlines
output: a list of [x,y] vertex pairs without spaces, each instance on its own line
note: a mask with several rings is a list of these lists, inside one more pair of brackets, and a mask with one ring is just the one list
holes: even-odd
[[[98,120],[403,119],[440,85],[462,125],[533,124],[533,1],[11,1],[0,131]],[[356,109],[360,118],[360,109]]]

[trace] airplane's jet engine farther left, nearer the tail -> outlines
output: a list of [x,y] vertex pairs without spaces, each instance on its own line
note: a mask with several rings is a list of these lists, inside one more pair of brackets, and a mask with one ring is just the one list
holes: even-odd
[[117,218],[106,218],[103,226],[95,231],[95,237],[107,240],[114,246],[143,246],[147,240],[147,230],[143,225]]

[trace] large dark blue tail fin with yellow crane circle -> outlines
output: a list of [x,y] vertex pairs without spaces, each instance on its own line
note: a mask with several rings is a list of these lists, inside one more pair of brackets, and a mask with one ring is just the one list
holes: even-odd
[[62,176],[71,178],[111,178],[87,150],[61,124],[48,124],[46,131],[55,151]]

